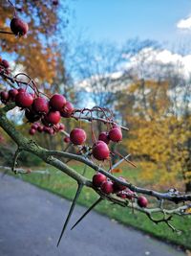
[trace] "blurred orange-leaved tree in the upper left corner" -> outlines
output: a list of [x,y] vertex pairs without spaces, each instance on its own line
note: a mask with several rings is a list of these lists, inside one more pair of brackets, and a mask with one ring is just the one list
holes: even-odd
[[[60,12],[57,12],[58,6],[54,5],[52,0],[45,2],[15,0],[13,4],[15,10],[9,1],[1,3],[1,31],[11,32],[10,22],[15,12],[29,24],[30,30],[22,40],[18,40],[14,35],[0,34],[1,52],[4,56],[10,54],[13,69],[25,70],[33,78],[38,78],[38,81],[53,82],[56,75],[56,61],[59,57],[55,34],[59,33],[59,38],[63,35],[58,29],[63,30],[67,25],[67,6],[60,1]],[[65,15],[60,17],[59,13]],[[63,40],[63,37],[60,40]]]

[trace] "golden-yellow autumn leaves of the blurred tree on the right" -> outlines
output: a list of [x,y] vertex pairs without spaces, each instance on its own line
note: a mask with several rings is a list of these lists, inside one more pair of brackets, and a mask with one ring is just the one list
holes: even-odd
[[127,105],[131,128],[123,145],[137,158],[142,180],[163,188],[176,182],[190,191],[191,116],[185,100],[175,102],[170,90],[170,81],[137,81],[128,87],[134,100]]

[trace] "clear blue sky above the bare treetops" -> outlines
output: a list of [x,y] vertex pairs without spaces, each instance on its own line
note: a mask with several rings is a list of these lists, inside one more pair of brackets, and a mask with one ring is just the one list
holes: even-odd
[[74,0],[74,33],[118,44],[129,38],[155,39],[173,45],[191,39],[177,28],[191,14],[190,0]]

